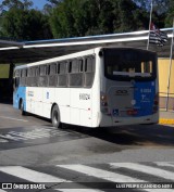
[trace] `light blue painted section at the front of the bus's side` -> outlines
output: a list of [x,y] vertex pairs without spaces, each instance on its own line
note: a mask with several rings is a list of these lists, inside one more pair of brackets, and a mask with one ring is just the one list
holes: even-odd
[[18,108],[20,99],[23,100],[24,111],[26,111],[26,87],[18,87],[13,93],[13,107]]

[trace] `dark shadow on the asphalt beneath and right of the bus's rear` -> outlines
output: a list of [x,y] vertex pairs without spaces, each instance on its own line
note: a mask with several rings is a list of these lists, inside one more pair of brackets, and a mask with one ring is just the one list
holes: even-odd
[[73,126],[71,129],[120,145],[174,146],[174,127],[164,125],[134,125],[97,129]]

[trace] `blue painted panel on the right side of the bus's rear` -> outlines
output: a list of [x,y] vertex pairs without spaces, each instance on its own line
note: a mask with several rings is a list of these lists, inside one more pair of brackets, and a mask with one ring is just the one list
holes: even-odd
[[137,110],[137,117],[152,114],[153,100],[156,97],[156,82],[135,82],[134,107]]

